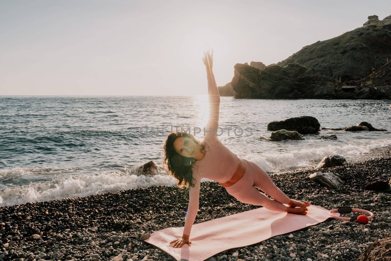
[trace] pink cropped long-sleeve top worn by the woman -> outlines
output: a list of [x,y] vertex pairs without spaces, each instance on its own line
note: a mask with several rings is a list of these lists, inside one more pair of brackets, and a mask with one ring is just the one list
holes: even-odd
[[239,166],[238,156],[224,146],[218,136],[216,136],[216,133],[220,132],[216,129],[219,126],[220,95],[214,76],[207,76],[207,78],[210,110],[209,121],[205,130],[211,131],[205,134],[203,140],[206,144],[204,158],[197,160],[192,167],[195,186],[189,186],[189,205],[183,229],[183,234],[187,236],[190,236],[190,231],[199,208],[201,178],[209,178],[224,183],[233,176]]

